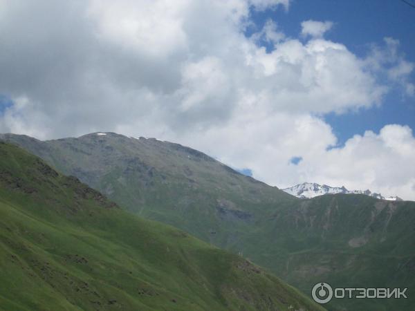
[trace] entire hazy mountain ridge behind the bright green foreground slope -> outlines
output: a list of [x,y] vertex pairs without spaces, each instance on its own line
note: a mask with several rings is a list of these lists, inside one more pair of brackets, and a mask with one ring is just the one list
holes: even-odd
[[[102,135],[105,134],[105,135]],[[415,287],[415,202],[363,194],[299,199],[172,142],[91,133],[1,135],[123,209],[241,254],[310,296],[315,283]],[[408,299],[335,299],[329,310],[411,310]]]

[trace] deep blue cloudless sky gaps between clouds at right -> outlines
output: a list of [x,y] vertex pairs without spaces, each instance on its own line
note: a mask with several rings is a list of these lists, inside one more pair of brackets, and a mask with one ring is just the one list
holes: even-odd
[[[415,0],[408,1],[415,5]],[[400,0],[295,0],[288,11],[252,10],[252,18],[259,29],[266,20],[273,19],[293,38],[299,37],[302,21],[333,21],[326,39],[344,44],[359,57],[367,55],[370,44],[381,45],[384,37],[393,37],[400,41],[405,58],[415,62],[415,8]],[[255,29],[248,29],[248,35],[252,31]],[[355,134],[362,135],[367,130],[378,133],[386,124],[408,125],[414,130],[415,99],[394,89],[380,106],[341,115],[329,113],[324,115],[324,120],[332,126],[340,146]]]

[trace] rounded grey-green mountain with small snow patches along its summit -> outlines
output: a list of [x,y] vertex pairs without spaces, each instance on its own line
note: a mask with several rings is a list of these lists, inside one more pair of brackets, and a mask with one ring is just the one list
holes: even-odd
[[234,248],[275,205],[299,201],[206,156],[156,139],[116,133],[41,142],[0,135],[134,213]]

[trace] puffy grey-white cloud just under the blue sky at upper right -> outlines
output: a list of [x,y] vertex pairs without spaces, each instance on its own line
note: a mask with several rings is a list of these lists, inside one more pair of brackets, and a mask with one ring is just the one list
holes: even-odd
[[246,85],[274,111],[343,113],[372,106],[385,93],[356,55],[331,41],[287,39],[270,53],[252,48],[246,59],[253,70]]

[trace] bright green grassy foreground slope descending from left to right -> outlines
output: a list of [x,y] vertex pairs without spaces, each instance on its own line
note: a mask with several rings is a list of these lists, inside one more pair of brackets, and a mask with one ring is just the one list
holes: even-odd
[[0,310],[324,310],[0,142]]

